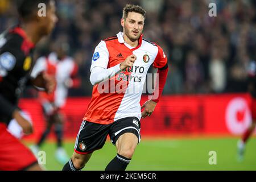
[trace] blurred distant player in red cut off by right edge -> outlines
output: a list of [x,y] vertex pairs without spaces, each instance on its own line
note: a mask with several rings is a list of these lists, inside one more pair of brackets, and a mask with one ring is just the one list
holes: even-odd
[[237,152],[238,152],[238,161],[243,160],[245,154],[245,145],[251,134],[253,133],[256,126],[256,62],[251,61],[248,69],[248,91],[251,95],[251,115],[252,122],[250,126],[243,133],[242,138],[238,140],[237,143]]

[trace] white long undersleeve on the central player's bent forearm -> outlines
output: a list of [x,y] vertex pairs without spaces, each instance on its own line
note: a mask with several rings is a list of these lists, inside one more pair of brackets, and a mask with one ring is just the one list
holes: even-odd
[[102,67],[94,67],[90,73],[90,82],[95,85],[101,81],[107,80],[115,76],[118,72],[121,72],[120,64],[114,67],[104,69]]

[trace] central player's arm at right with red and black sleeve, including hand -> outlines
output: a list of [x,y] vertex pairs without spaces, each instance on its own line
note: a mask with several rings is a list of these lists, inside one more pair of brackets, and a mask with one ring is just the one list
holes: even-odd
[[158,55],[156,56],[153,67],[158,68],[158,74],[156,76],[156,85],[154,93],[150,100],[146,101],[141,109],[144,108],[142,111],[142,118],[149,117],[153,111],[155,110],[156,104],[159,102],[160,97],[162,96],[164,85],[166,84],[167,75],[168,75],[168,60],[166,55],[163,52],[163,49],[158,47]]

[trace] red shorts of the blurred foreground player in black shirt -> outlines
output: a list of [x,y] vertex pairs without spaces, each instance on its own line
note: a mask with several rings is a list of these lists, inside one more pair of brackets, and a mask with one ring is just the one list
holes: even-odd
[[35,164],[34,154],[0,123],[0,170],[27,170]]

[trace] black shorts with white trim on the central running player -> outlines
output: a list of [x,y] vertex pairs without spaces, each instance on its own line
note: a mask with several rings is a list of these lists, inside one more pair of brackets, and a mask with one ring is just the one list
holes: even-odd
[[133,133],[141,140],[141,123],[136,117],[118,119],[109,125],[82,121],[79,133],[76,137],[75,152],[77,154],[90,154],[102,148],[109,135],[115,145],[117,139],[124,133]]

